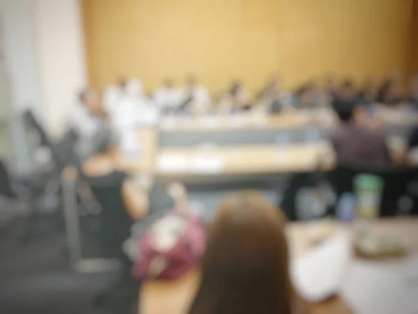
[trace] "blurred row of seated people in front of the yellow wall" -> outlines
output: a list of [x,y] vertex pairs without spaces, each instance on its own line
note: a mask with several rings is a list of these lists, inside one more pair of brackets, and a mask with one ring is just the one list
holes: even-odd
[[335,75],[326,75],[323,83],[307,82],[295,89],[286,91],[279,78],[270,77],[261,91],[250,97],[245,85],[236,80],[216,98],[196,77],[190,75],[183,87],[173,80],[164,80],[151,95],[144,92],[141,81],[122,80],[119,84],[107,87],[102,94],[86,88],[79,98],[80,107],[75,112],[75,124],[81,132],[88,132],[95,125],[86,121],[84,113],[96,117],[107,115],[117,127],[137,121],[156,121],[160,114],[230,114],[240,111],[261,110],[278,113],[291,108],[311,108],[332,105],[334,100],[356,100],[364,105],[382,103],[389,106],[408,104],[418,106],[418,75],[412,77],[409,87],[403,88],[400,75],[391,75],[379,80],[374,75],[364,79],[362,86],[353,80],[339,80]]

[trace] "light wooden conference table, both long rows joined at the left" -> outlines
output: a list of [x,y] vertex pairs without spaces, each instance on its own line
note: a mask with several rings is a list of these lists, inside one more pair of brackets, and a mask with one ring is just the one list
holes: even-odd
[[[379,112],[379,121],[384,120],[387,128],[412,128],[418,125],[417,114],[384,108],[380,108]],[[171,121],[169,126],[167,121]],[[335,117],[325,108],[261,118],[254,114],[233,117],[165,117],[159,127],[146,126],[138,130],[141,149],[137,155],[126,156],[117,150],[107,151],[93,156],[84,166],[88,168],[88,164],[103,163],[103,167],[114,166],[131,174],[148,173],[167,179],[301,172],[315,170],[318,165],[330,168],[334,158],[332,149],[323,136],[325,133],[318,133],[317,130],[335,125]],[[304,140],[286,138],[286,130],[289,128],[304,133]],[[270,140],[251,140],[250,134],[266,130],[272,132]],[[192,135],[196,140],[188,144],[177,145],[175,141],[164,144],[164,133]],[[206,139],[206,136],[218,136],[218,133],[223,142]],[[404,138],[405,132],[389,134],[389,148],[396,151],[394,154],[398,156],[403,145],[400,139]]]

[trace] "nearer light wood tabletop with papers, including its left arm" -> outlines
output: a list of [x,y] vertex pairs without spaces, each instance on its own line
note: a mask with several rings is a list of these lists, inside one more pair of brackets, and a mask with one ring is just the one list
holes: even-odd
[[[334,151],[325,141],[312,144],[247,145],[234,147],[187,147],[157,149],[155,133],[139,133],[144,149],[139,158],[128,159],[118,151],[94,156],[83,164],[84,173],[100,175],[113,170],[148,173],[164,179],[182,180],[214,175],[258,175],[330,170]],[[389,141],[394,160],[400,160],[403,141]]]

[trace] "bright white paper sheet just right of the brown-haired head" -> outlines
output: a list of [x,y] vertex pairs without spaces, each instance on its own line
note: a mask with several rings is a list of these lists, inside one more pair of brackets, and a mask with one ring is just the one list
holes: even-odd
[[339,291],[352,255],[348,232],[340,232],[292,262],[291,276],[297,292],[307,301],[323,301]]

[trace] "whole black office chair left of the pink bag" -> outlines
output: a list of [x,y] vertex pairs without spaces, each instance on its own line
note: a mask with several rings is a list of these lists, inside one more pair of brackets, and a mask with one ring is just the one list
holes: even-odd
[[98,216],[102,255],[115,258],[121,264],[116,280],[93,300],[96,307],[127,306],[132,304],[132,300],[136,299],[139,293],[139,283],[130,275],[132,262],[122,250],[123,242],[130,237],[130,227],[134,223],[127,215],[123,203],[121,189],[125,178],[126,174],[123,172],[114,172],[104,177],[82,178],[90,186],[95,200],[102,207]]

